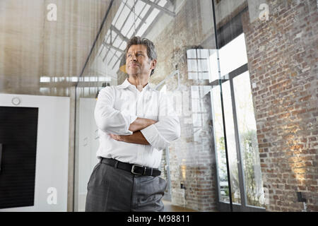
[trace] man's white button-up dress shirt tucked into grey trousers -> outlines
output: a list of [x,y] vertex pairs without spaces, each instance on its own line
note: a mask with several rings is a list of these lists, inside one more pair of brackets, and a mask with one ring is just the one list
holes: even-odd
[[[103,88],[94,114],[100,136],[98,157],[158,168],[162,150],[180,136],[179,119],[170,100],[149,84],[141,92],[127,79],[122,85]],[[141,130],[150,145],[116,141],[109,136],[131,135],[129,126],[137,117],[158,121]]]

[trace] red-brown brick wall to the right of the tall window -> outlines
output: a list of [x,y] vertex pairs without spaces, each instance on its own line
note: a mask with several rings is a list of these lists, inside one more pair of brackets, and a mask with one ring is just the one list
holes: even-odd
[[266,210],[301,211],[301,191],[318,211],[317,2],[269,1],[269,20],[242,20]]

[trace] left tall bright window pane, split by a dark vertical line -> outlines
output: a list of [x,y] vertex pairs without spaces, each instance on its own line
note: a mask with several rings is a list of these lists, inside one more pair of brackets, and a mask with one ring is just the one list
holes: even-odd
[[[226,169],[225,143],[222,124],[222,109],[220,104],[220,88],[212,89],[213,128],[216,142],[216,158],[218,165],[218,182],[220,201],[230,201],[228,192],[228,174]],[[240,184],[238,179],[237,155],[235,146],[234,124],[232,121],[232,103],[230,100],[230,83],[223,84],[223,102],[225,110],[225,129],[230,163],[230,183],[233,203],[240,203]]]

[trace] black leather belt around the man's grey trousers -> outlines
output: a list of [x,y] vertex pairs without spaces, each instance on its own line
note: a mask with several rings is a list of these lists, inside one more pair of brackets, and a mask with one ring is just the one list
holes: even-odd
[[102,157],[100,162],[106,165],[110,165],[112,167],[118,168],[118,169],[126,170],[136,175],[157,177],[157,176],[160,176],[161,174],[160,170],[158,170],[157,168],[143,167],[141,165],[134,165],[134,164],[126,163],[126,162],[119,162],[118,160],[114,160],[112,158]]

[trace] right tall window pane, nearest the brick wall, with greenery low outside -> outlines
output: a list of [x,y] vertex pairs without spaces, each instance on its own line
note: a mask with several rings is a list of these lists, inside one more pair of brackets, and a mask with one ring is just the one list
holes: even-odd
[[248,71],[233,79],[247,205],[264,206],[257,126]]

